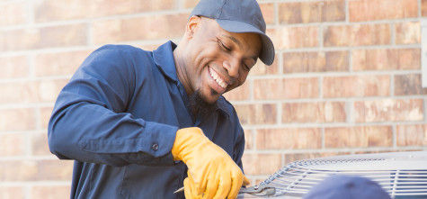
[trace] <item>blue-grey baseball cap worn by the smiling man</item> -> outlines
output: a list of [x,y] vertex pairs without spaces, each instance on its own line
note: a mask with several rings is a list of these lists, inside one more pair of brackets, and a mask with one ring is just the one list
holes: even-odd
[[190,16],[215,19],[227,32],[258,33],[262,41],[260,59],[266,65],[274,60],[274,46],[265,34],[265,22],[260,5],[255,0],[200,0]]

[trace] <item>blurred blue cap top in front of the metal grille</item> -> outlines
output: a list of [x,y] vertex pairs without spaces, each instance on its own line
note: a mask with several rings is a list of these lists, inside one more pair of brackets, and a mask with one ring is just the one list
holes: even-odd
[[390,199],[384,189],[376,182],[362,176],[334,175],[315,185],[304,199]]

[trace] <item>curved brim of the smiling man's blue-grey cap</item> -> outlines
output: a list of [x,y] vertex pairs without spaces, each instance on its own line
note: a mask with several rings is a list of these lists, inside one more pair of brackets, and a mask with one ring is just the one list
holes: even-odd
[[260,59],[268,66],[274,61],[274,46],[271,39],[261,30],[255,28],[253,25],[247,23],[241,23],[231,20],[216,19],[219,26],[227,32],[254,32],[261,36],[262,50],[260,53]]

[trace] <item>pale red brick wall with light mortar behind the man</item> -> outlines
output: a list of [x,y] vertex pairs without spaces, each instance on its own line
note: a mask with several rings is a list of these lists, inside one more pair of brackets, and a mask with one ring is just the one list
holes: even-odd
[[[253,183],[290,161],[427,149],[427,0],[260,0],[277,50],[227,94]],[[56,96],[92,50],[179,41],[195,0],[0,0],[0,198],[67,198],[47,147]]]

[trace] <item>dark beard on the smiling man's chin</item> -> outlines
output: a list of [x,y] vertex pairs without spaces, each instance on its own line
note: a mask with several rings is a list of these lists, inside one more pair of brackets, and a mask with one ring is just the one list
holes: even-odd
[[[212,91],[215,92],[215,91]],[[189,96],[188,109],[196,118],[205,118],[217,109],[217,102],[208,103],[203,98],[200,90],[196,90]]]

